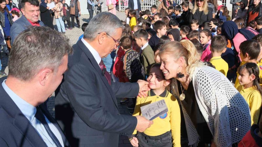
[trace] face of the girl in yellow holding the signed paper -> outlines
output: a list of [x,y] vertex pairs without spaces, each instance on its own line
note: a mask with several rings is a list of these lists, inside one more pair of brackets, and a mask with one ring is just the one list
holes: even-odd
[[153,67],[147,78],[148,86],[150,89],[164,89],[164,77],[159,67]]

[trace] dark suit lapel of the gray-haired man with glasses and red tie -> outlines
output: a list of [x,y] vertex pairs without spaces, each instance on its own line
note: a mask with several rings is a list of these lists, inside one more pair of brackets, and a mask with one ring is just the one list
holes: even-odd
[[[93,67],[95,68],[95,70],[98,72],[98,75],[100,76],[100,78],[102,79],[102,81],[105,83],[107,89],[109,90],[111,97],[117,107],[117,101],[116,101],[116,96],[114,94],[114,92],[112,91],[111,86],[108,84],[107,78],[105,76],[102,76],[102,70],[100,69],[99,65],[97,64],[94,56],[92,55],[92,53],[89,51],[89,49],[84,45],[84,43],[79,40],[77,42],[77,45],[80,47],[80,49],[82,49],[84,51],[84,53],[86,54],[87,58],[90,60],[91,64],[93,65]],[[118,107],[117,107],[118,109]]]

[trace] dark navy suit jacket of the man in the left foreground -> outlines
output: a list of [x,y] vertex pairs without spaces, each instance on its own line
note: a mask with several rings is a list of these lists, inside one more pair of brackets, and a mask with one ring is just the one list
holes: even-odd
[[[2,84],[0,84],[0,96],[0,146],[47,147],[36,129],[3,89]],[[39,107],[60,132],[64,146],[70,146],[61,128],[48,112],[46,105],[41,104]]]

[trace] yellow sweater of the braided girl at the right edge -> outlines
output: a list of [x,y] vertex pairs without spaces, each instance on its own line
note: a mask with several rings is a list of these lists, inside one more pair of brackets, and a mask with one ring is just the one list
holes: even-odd
[[251,125],[257,124],[261,107],[261,95],[256,87],[249,87],[240,91],[240,94],[245,98],[250,109]]

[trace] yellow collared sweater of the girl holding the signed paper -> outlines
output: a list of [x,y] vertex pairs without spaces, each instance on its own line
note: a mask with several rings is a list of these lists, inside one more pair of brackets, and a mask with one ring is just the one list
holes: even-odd
[[[158,136],[171,130],[173,147],[180,147],[180,108],[177,99],[167,90],[160,94],[160,96],[157,96],[151,89],[146,98],[137,97],[133,116],[142,115],[140,107],[162,99],[164,99],[167,104],[168,112],[155,118],[153,120],[154,124],[143,133],[148,136]],[[135,130],[133,134],[137,134],[137,130]]]

